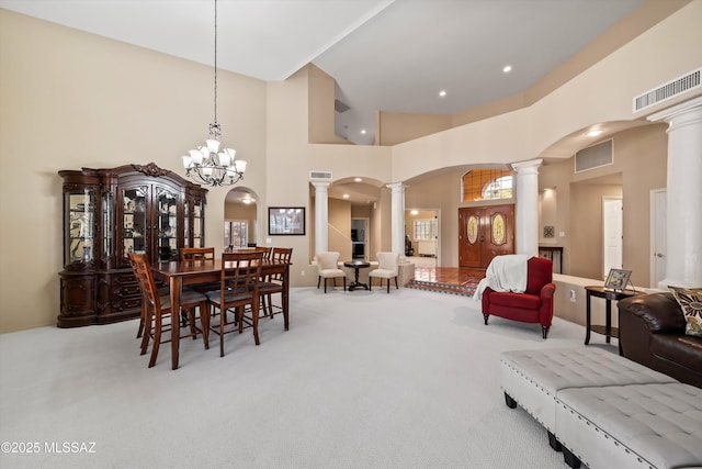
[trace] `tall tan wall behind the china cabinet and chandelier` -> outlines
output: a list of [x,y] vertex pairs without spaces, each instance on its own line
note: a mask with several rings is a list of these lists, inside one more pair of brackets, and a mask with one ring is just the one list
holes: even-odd
[[[223,139],[265,193],[265,83],[222,71]],[[156,163],[207,136],[212,68],[0,10],[0,332],[52,325],[63,268],[61,169]],[[21,176],[20,176],[21,175]],[[207,194],[205,243],[223,248],[224,198]],[[19,203],[19,201],[22,201]]]

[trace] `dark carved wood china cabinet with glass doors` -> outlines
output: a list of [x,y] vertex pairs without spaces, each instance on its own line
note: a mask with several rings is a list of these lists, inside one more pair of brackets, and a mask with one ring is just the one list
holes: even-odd
[[64,170],[64,270],[58,327],[139,316],[127,253],[150,263],[204,247],[207,190],[154,163]]

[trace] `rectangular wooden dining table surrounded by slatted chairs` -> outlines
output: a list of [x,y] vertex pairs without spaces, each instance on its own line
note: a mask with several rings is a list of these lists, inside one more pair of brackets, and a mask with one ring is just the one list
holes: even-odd
[[[283,317],[285,331],[290,327],[290,266],[275,259],[263,259],[261,276],[281,275],[283,278]],[[171,311],[174,315],[172,323],[177,324],[180,314],[180,297],[183,287],[219,281],[222,273],[222,258],[204,260],[171,260],[154,264],[151,266],[154,278],[161,280],[170,287]],[[180,331],[178,326],[171,327],[171,362],[173,369],[178,369],[178,353],[180,347]]]

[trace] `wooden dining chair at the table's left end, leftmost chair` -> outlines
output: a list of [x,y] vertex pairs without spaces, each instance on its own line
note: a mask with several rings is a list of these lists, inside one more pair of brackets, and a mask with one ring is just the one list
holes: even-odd
[[[144,308],[141,308],[141,314],[144,315],[144,333],[141,337],[141,355],[146,354],[149,346],[149,342],[152,338],[154,345],[151,347],[151,358],[149,359],[149,368],[156,365],[158,357],[158,349],[161,344],[171,342],[171,338],[162,338],[165,332],[171,331],[168,334],[172,336],[172,327],[178,327],[178,337],[193,337],[197,338],[197,326],[195,325],[195,308],[200,309],[202,337],[205,344],[205,348],[210,348],[210,303],[207,297],[202,293],[197,293],[192,290],[183,290],[181,293],[181,309],[188,312],[190,333],[185,335],[180,334],[179,312],[171,309],[171,297],[168,294],[159,295],[154,281],[154,275],[151,268],[146,258],[146,254],[128,253],[129,261],[134,269],[134,273],[139,282],[139,289],[141,290],[141,301]],[[165,324],[163,319],[170,317],[170,322]],[[170,327],[170,328],[169,328]]]

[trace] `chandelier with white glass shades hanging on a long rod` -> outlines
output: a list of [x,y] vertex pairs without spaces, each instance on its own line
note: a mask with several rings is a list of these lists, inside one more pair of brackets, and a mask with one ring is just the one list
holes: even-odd
[[183,156],[185,176],[205,186],[231,186],[244,179],[246,161],[235,159],[236,150],[223,148],[219,137],[222,126],[217,123],[217,0],[215,0],[215,120],[210,124],[210,136],[204,145],[189,150]]

